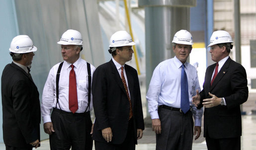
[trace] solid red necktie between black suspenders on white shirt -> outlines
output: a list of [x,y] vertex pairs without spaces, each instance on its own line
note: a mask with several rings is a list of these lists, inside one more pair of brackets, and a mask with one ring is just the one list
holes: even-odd
[[77,80],[74,71],[74,65],[71,65],[72,70],[69,74],[69,109],[72,113],[78,110],[78,93],[77,93]]

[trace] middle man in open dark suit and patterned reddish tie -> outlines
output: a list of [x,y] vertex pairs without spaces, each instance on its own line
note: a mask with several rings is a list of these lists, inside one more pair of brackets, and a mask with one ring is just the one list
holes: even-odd
[[135,43],[126,31],[110,38],[112,59],[92,77],[95,150],[135,150],[144,130],[137,71],[125,63],[132,59]]

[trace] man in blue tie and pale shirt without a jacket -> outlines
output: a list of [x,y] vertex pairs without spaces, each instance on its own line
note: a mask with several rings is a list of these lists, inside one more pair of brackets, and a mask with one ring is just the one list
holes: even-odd
[[[203,109],[197,110],[191,101],[196,90],[200,91],[196,69],[186,62],[192,50],[192,36],[188,31],[180,30],[172,43],[175,56],[156,67],[146,98],[157,138],[156,150],[192,150],[192,116],[196,140],[201,134],[203,113]],[[186,74],[186,88],[181,85],[182,70],[183,75]],[[181,107],[184,89],[187,95],[185,111]]]

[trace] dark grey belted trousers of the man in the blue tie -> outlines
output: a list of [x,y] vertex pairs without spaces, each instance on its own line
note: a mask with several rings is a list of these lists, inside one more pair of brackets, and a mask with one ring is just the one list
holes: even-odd
[[156,150],[192,150],[192,112],[189,110],[184,114],[159,107],[158,114],[162,131],[156,134]]

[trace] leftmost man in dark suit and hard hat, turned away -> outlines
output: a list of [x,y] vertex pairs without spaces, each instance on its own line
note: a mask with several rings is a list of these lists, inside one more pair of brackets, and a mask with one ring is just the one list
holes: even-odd
[[40,146],[39,93],[28,68],[37,50],[27,35],[10,44],[13,62],[1,76],[3,141],[6,150],[32,150]]

